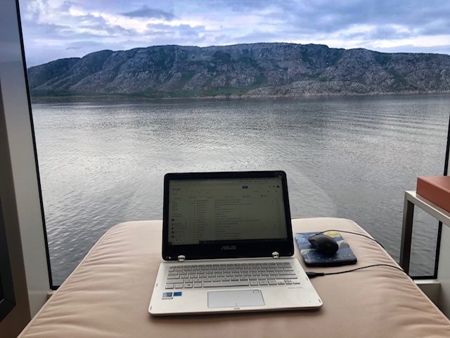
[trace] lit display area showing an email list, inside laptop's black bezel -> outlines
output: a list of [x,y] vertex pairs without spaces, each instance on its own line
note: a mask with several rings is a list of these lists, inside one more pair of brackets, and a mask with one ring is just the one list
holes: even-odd
[[172,180],[169,242],[285,239],[281,178]]

